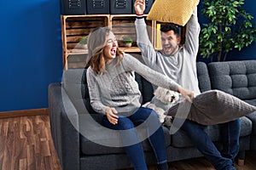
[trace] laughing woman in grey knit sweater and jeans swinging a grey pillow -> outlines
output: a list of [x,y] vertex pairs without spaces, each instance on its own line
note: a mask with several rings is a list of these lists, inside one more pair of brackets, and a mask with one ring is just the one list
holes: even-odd
[[147,169],[143,146],[137,137],[136,126],[145,124],[159,170],[168,169],[163,129],[157,114],[141,107],[134,71],[162,88],[172,89],[191,102],[194,93],[187,91],[168,77],[149,69],[130,54],[122,53],[113,32],[99,27],[88,37],[89,61],[86,67],[92,108],[104,114],[102,124],[119,130],[127,156],[134,168]]

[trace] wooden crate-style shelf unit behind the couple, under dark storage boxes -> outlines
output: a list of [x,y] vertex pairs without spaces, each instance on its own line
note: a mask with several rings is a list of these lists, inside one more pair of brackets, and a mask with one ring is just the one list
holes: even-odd
[[[140,53],[137,48],[137,36],[134,22],[136,14],[87,14],[87,15],[61,15],[61,38],[63,67],[68,69],[68,56],[76,54],[88,54],[87,49],[79,48],[82,37],[89,35],[97,26],[108,26],[120,42],[123,37],[131,37],[134,42],[131,48],[120,47],[125,53]],[[154,21],[146,20],[148,36],[154,40]],[[83,61],[84,62],[84,61]]]

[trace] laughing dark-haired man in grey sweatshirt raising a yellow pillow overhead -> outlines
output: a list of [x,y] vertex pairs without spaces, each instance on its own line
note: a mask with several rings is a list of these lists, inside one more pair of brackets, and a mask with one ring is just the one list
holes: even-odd
[[[146,65],[156,71],[160,71],[178,84],[192,90],[195,94],[201,94],[198,87],[196,74],[196,55],[199,48],[200,25],[195,8],[186,25],[186,40],[183,47],[179,46],[181,37],[176,26],[161,26],[162,50],[155,51],[149,41],[143,11],[145,0],[137,0],[134,3],[137,14],[135,26],[137,29],[137,45],[142,51]],[[224,123],[224,150],[220,151],[212,143],[203,126],[197,122],[185,120],[181,129],[188,133],[189,138],[201,153],[210,161],[217,170],[236,169],[234,159],[239,151],[240,119]]]

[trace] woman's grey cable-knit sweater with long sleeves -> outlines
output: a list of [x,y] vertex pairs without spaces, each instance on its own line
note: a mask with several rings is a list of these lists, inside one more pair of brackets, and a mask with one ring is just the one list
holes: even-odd
[[106,65],[107,72],[102,76],[90,67],[87,70],[90,104],[96,112],[105,114],[107,107],[114,107],[119,113],[127,115],[141,106],[141,93],[134,71],[156,86],[177,91],[177,82],[151,70],[130,54],[124,54],[119,65],[116,65],[116,60]]

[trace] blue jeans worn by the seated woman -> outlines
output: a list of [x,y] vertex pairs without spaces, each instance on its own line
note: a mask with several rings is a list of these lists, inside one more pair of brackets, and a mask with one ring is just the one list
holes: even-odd
[[[125,152],[136,170],[147,169],[147,165],[144,159],[143,145],[137,137],[137,129],[134,128],[143,122],[146,123],[147,132],[152,133],[152,135],[149,136],[149,143],[154,150],[157,163],[162,164],[167,162],[164,131],[155,111],[140,107],[131,116],[118,116],[119,120],[117,124],[113,125],[110,123],[107,116],[103,116],[102,124],[105,127],[120,130],[122,142],[125,146]],[[150,121],[148,121],[149,116]],[[121,130],[125,130],[125,133],[122,133],[123,131]]]

